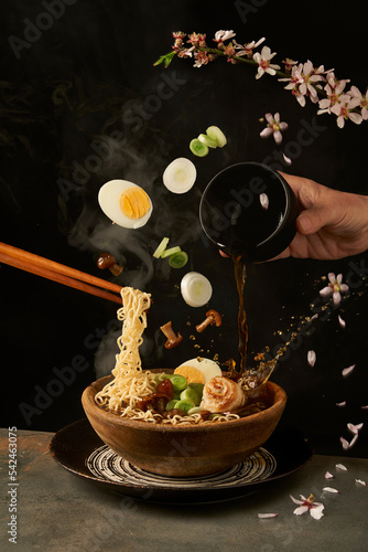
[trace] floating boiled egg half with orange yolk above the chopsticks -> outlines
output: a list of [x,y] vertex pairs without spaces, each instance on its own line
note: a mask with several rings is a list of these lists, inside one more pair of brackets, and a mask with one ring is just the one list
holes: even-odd
[[104,213],[125,229],[144,226],[152,213],[149,194],[129,180],[109,180],[98,192]]

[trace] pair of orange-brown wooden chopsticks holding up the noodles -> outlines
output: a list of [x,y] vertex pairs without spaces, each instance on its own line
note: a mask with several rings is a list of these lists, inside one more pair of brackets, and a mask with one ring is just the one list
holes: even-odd
[[2,242],[0,242],[0,263],[121,305],[121,286]]

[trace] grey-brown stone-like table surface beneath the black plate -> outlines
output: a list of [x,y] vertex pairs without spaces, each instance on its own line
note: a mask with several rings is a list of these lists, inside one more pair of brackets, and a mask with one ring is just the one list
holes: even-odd
[[[1,551],[368,550],[368,489],[356,481],[368,482],[366,458],[315,455],[296,473],[256,493],[216,503],[170,505],[125,497],[71,474],[51,456],[52,437],[17,432],[15,486],[9,473],[14,465],[8,464],[9,429],[0,429]],[[326,471],[334,478],[325,479]],[[324,491],[326,486],[339,492]],[[309,512],[293,514],[296,505],[290,495],[311,492],[325,506],[321,520]],[[258,518],[269,512],[278,517]],[[17,544],[9,541],[11,530]]]

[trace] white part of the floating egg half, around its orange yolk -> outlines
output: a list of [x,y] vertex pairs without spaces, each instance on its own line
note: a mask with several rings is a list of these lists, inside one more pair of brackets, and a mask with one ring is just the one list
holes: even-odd
[[[152,202],[150,199],[150,210],[141,219],[129,219],[119,206],[119,198],[128,188],[140,188],[129,180],[109,180],[98,192],[98,203],[106,216],[125,229],[139,229],[144,226],[152,214]],[[147,192],[145,192],[147,193]]]

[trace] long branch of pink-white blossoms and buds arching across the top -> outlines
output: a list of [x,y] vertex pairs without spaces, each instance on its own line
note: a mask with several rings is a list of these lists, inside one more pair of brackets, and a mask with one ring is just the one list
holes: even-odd
[[[277,75],[279,82],[288,83],[284,88],[290,89],[299,104],[304,107],[306,98],[312,103],[318,104],[317,115],[334,114],[337,119],[337,126],[343,128],[345,121],[350,119],[360,125],[362,120],[368,120],[368,89],[366,94],[351,86],[345,91],[349,79],[338,81],[335,77],[334,70],[325,71],[323,65],[314,67],[311,61],[299,63],[286,57],[282,63],[284,71],[280,65],[271,63],[277,55],[271,52],[269,46],[263,45],[260,52],[255,50],[264,42],[264,38],[259,41],[239,44],[234,31],[217,31],[214,42],[217,47],[209,47],[206,43],[206,34],[184,32],[174,32],[175,39],[172,51],[162,55],[154,65],[164,63],[165,67],[170,65],[175,56],[191,57],[194,60],[194,67],[202,67],[215,61],[218,57],[226,57],[231,64],[246,63],[257,67],[256,78],[260,78],[268,73]],[[184,39],[187,40],[184,42]],[[324,96],[322,99],[320,96]]]

